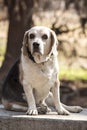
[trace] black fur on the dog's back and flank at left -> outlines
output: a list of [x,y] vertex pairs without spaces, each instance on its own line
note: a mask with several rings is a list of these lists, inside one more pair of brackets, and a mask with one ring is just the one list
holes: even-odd
[[9,102],[25,103],[22,95],[24,93],[23,86],[19,81],[19,63],[20,60],[17,60],[7,75],[2,88],[2,98]]

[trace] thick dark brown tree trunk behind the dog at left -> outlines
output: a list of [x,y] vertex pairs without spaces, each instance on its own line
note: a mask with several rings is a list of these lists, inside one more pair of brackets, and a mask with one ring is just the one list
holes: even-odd
[[20,57],[23,35],[32,25],[33,0],[5,0],[9,14],[9,30],[5,60],[0,69],[0,89],[11,66]]

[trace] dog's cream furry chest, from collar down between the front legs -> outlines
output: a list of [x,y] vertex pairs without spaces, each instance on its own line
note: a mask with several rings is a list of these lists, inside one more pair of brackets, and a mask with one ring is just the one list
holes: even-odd
[[37,65],[26,59],[24,59],[23,62],[25,82],[35,89],[37,100],[39,98],[43,99],[47,96],[50,88],[54,85],[56,80],[55,75],[57,72],[55,72],[53,63],[48,62],[47,64]]

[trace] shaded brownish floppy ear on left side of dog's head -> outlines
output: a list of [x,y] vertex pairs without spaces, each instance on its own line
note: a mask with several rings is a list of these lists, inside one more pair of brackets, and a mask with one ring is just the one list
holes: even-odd
[[28,31],[25,32],[24,38],[23,38],[22,51],[24,55],[27,55],[27,47],[28,47]]

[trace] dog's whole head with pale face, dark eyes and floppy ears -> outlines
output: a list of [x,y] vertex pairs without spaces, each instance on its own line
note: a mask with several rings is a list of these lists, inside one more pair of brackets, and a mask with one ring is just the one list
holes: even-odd
[[25,32],[23,39],[23,53],[29,52],[36,63],[47,61],[50,56],[57,55],[56,34],[49,28],[36,26]]

